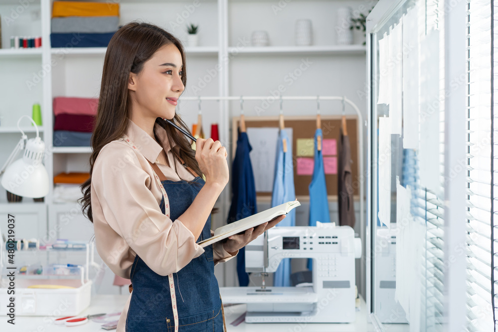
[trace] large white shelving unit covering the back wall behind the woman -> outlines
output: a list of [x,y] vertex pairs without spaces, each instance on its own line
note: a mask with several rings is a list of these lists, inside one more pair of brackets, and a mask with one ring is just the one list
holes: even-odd
[[[365,6],[365,1],[294,0],[280,8],[279,2],[270,0],[205,0],[195,3],[190,0],[122,0],[120,25],[132,20],[146,21],[162,26],[185,41],[185,25],[190,22],[199,24],[199,46],[186,47],[186,97],[270,96],[282,85],[283,96],[347,96],[360,107],[366,118],[366,97],[361,95],[361,92],[367,91],[363,34],[355,32],[354,45],[335,43],[335,12],[345,5],[358,9]],[[2,23],[3,17],[10,15],[11,9],[15,10],[17,6],[18,1],[14,0],[0,4]],[[275,11],[275,6],[281,10]],[[34,0],[12,24],[2,24],[0,77],[6,79],[0,82],[0,164],[20,138],[16,128],[17,119],[24,114],[31,115],[32,104],[39,103],[43,113],[40,135],[47,146],[45,166],[52,179],[62,171],[88,171],[91,153],[89,147],[52,146],[53,98],[98,98],[107,48],[51,48],[51,8],[52,0]],[[312,20],[313,46],[294,46],[294,23],[299,18]],[[270,46],[250,45],[250,36],[255,30],[268,31]],[[8,49],[11,35],[41,35],[42,47]],[[304,70],[302,63],[308,63]],[[289,74],[292,73],[295,79],[290,78]],[[27,83],[35,81],[31,85]],[[218,123],[220,140],[231,151],[231,117],[239,115],[240,103],[203,101],[201,104],[204,132],[209,135],[210,124]],[[265,112],[256,114],[256,107],[261,106]],[[277,115],[278,107],[278,103],[269,103],[268,107],[264,107],[261,101],[244,103],[248,116]],[[322,114],[337,114],[340,107],[341,104],[337,102],[321,103]],[[283,110],[284,115],[313,114],[316,112],[316,102],[288,101],[283,103]],[[180,99],[178,112],[191,126],[197,122],[198,102]],[[349,110],[349,113],[354,112]],[[33,129],[28,127],[28,123],[22,125],[26,127],[28,137],[33,137]],[[230,207],[229,190],[230,185],[217,203],[221,213],[213,217],[214,227],[226,221]],[[64,209],[75,211],[78,204],[53,203],[53,188],[44,203],[32,203],[31,199],[24,199],[22,203],[8,204],[4,191],[0,191],[1,215],[12,212],[22,214],[27,206],[38,209],[37,216],[45,216],[46,238],[53,240],[61,232],[64,233],[64,229],[61,230],[63,226],[60,226],[63,224],[60,218],[64,216]],[[40,222],[38,219],[33,217],[30,222],[36,224]],[[3,218],[0,221],[1,226],[5,220]],[[71,225],[78,227],[76,222]],[[87,226],[82,225],[85,229]],[[73,233],[78,236],[77,231]],[[83,238],[87,236],[87,231],[81,234],[85,235],[74,240],[88,240]],[[234,285],[232,274],[226,275],[230,277],[219,276],[220,283]]]

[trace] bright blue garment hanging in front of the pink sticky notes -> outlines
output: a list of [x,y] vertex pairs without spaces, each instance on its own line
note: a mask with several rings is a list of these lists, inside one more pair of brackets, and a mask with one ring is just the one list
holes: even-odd
[[[310,219],[309,225],[316,226],[316,222],[330,222],[329,200],[327,198],[327,183],[325,182],[325,171],[323,167],[322,151],[318,151],[318,136],[322,137],[322,129],[315,131],[315,165],[313,177],[309,186],[310,192]],[[308,260],[308,269],[311,270],[312,260]]]

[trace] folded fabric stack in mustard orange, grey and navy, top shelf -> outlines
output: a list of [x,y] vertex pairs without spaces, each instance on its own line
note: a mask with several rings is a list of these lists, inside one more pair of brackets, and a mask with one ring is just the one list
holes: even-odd
[[52,47],[107,47],[119,28],[119,3],[54,1]]

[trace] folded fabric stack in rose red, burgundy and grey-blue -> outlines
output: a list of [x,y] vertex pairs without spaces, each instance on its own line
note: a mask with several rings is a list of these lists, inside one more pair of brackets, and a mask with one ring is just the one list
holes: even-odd
[[54,98],[54,146],[90,146],[98,99]]

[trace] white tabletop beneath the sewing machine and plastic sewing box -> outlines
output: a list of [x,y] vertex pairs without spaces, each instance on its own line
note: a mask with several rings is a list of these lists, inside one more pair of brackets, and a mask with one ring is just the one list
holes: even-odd
[[[123,309],[128,295],[96,295],[92,297],[90,307],[83,313],[84,315],[114,313]],[[356,313],[356,321],[351,324],[306,324],[306,323],[287,323],[287,324],[246,324],[241,323],[238,326],[231,325],[246,311],[245,304],[228,306],[225,308],[225,317],[227,329],[229,332],[369,332],[373,331],[372,324],[367,322],[367,306],[362,299],[360,311]],[[118,317],[119,318],[119,317]],[[17,316],[15,326],[8,324],[6,316],[0,316],[0,331],[8,332],[103,332],[101,323],[88,322],[87,324],[65,327],[54,325],[51,318],[43,316]],[[406,324],[393,324],[389,327],[390,332],[407,331]],[[69,329],[69,330],[68,330]],[[114,330],[115,331],[115,330]],[[159,332],[159,331],[157,331]]]

